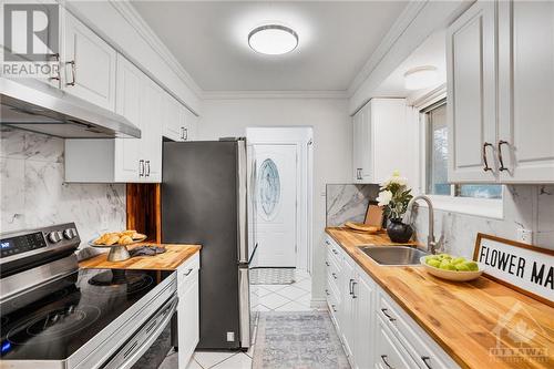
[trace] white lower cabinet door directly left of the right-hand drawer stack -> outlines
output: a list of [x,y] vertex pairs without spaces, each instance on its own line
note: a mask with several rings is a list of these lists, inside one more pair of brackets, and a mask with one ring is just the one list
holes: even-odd
[[366,369],[370,368],[373,362],[373,306],[377,291],[375,285],[361,275],[356,279],[352,290],[356,310],[353,363],[357,369]]

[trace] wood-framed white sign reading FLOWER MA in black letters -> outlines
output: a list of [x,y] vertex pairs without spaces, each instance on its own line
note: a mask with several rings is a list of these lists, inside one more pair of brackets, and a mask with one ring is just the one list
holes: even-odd
[[478,234],[473,259],[488,277],[554,306],[554,250]]

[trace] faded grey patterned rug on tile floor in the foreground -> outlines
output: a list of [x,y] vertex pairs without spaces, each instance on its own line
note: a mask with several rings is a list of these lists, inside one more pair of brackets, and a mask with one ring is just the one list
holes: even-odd
[[327,311],[260,312],[253,369],[349,369]]

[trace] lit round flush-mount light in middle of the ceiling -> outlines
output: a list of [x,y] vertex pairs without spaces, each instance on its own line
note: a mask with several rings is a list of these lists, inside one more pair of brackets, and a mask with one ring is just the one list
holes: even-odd
[[260,25],[248,33],[248,45],[261,54],[286,54],[298,47],[298,34],[280,24]]

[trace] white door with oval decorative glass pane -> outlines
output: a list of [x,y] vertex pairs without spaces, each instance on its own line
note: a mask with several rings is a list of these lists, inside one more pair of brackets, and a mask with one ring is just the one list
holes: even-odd
[[256,266],[296,267],[296,145],[254,145]]

